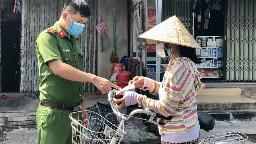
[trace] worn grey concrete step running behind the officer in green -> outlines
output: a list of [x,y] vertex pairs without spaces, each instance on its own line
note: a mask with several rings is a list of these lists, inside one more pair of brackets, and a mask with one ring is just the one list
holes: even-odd
[[[97,94],[97,93],[96,93]],[[85,93],[86,109],[90,109],[97,101],[108,104],[107,95]],[[0,102],[0,131],[17,128],[36,128],[35,113],[39,99],[6,99]]]

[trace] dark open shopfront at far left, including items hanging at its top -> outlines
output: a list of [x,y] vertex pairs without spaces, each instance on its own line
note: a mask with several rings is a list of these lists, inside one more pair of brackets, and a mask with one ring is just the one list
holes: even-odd
[[1,4],[1,92],[19,92],[21,8],[18,0]]

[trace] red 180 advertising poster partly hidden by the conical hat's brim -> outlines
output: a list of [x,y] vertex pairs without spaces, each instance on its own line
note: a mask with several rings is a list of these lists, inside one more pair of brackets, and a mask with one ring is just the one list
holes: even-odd
[[[156,26],[156,10],[147,10],[147,31]],[[147,52],[156,52],[156,41],[147,40]]]

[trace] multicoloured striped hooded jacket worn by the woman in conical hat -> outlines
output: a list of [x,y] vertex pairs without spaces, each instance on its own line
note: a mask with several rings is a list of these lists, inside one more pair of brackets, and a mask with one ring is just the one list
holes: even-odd
[[197,91],[205,87],[200,81],[201,78],[195,63],[184,57],[178,57],[168,64],[161,83],[144,78],[142,90],[149,90],[151,94],[159,95],[160,100],[140,95],[138,105],[144,109],[149,107],[166,117],[172,115],[171,121],[157,120],[166,123],[163,130],[159,129],[160,134],[186,133],[196,128]]

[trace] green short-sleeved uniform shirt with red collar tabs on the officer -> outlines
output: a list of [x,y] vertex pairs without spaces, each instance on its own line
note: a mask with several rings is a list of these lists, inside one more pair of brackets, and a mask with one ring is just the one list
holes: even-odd
[[78,70],[83,70],[83,56],[77,37],[71,35],[68,38],[57,21],[54,26],[39,34],[36,51],[41,80],[40,100],[66,105],[81,102],[83,83],[63,79],[46,65],[47,61],[61,60]]

